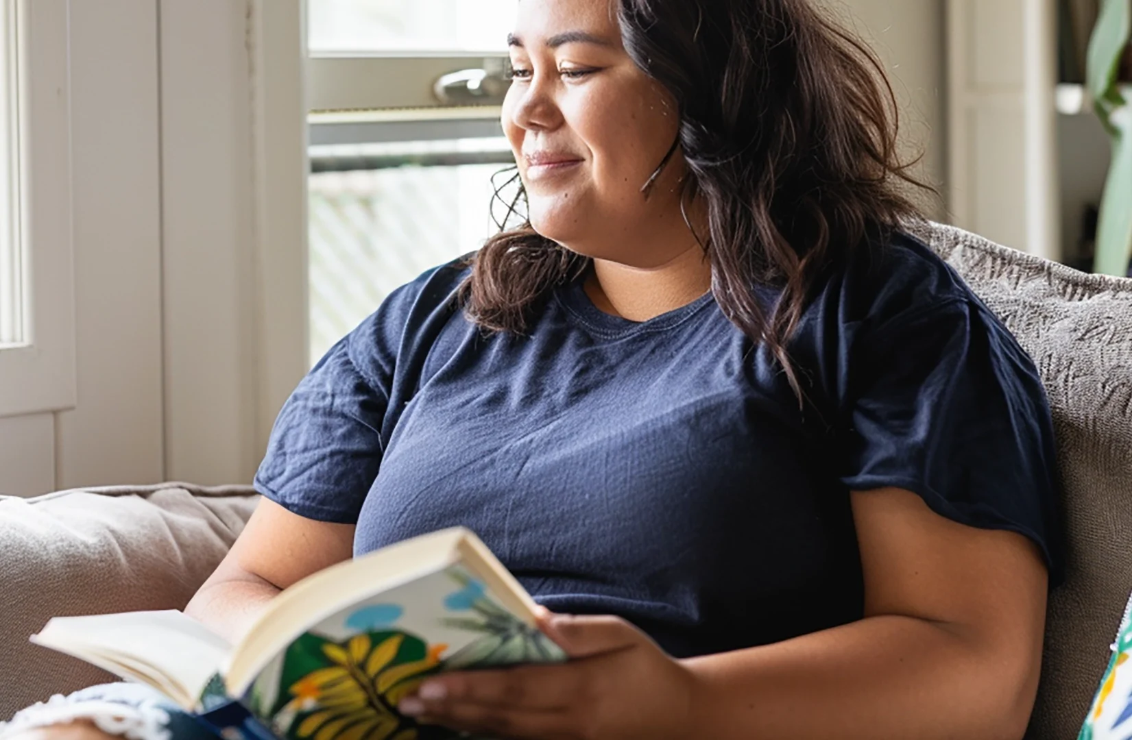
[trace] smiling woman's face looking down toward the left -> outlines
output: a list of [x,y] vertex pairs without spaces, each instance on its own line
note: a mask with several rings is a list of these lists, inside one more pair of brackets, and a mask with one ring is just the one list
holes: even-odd
[[655,267],[687,249],[677,152],[646,198],[678,130],[670,95],[629,59],[616,0],[520,0],[514,83],[503,126],[534,229],[599,259]]

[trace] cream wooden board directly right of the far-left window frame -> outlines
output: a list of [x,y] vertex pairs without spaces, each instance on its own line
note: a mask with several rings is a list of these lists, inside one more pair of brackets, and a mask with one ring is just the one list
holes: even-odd
[[78,404],[55,415],[55,485],[158,482],[157,0],[74,0],[70,12]]

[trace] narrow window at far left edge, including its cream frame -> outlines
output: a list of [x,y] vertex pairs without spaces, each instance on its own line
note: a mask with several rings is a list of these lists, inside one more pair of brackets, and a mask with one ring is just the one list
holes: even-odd
[[0,416],[75,406],[68,0],[0,0]]

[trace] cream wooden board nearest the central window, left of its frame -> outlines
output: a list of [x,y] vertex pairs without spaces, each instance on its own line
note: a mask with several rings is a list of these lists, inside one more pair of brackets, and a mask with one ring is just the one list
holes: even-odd
[[165,475],[248,483],[259,463],[248,6],[158,7]]

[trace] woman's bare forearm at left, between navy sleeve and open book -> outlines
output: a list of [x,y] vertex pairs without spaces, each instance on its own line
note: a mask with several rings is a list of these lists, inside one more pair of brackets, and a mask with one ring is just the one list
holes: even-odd
[[354,525],[316,522],[269,499],[255,513],[185,613],[237,642],[282,590],[353,556]]

